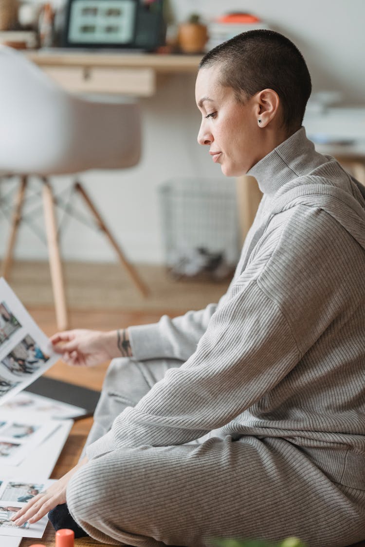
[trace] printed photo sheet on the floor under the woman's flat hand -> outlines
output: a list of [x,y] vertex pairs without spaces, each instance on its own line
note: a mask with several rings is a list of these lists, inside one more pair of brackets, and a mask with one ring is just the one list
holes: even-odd
[[43,536],[48,522],[47,515],[39,522],[34,524],[25,522],[20,527],[11,522],[11,517],[39,492],[47,490],[53,482],[55,481],[49,479],[45,481],[8,480],[0,475],[0,536],[25,538]]

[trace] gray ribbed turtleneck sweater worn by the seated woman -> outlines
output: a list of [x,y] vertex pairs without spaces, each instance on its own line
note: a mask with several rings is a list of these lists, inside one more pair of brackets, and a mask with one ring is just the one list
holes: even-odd
[[287,439],[334,480],[365,488],[365,202],[304,128],[248,174],[264,196],[228,292],[130,328],[136,359],[184,364],[88,456],[220,429]]

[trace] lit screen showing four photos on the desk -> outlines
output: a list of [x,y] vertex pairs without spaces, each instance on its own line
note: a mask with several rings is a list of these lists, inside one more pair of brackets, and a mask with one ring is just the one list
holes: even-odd
[[68,24],[70,44],[128,44],[134,39],[135,0],[74,0]]

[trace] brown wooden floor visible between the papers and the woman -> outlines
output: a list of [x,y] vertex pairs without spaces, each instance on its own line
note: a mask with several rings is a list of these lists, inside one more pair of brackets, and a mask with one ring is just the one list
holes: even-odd
[[[42,328],[47,335],[51,335],[56,331],[53,310],[35,308],[30,309],[29,311],[40,325],[40,328]],[[166,310],[166,312],[168,312],[168,310]],[[158,321],[160,315],[161,312],[120,313],[120,311],[71,311],[71,327],[94,328],[101,330],[114,329],[117,327],[123,328],[132,324],[136,325]],[[80,369],[73,369],[71,366],[67,366],[64,363],[59,362],[56,363],[47,374],[59,380],[69,381],[80,385],[82,384],[92,389],[101,389],[102,380],[107,365],[108,363],[105,363],[92,369],[81,369],[82,374],[79,374]],[[85,443],[86,436],[88,435],[91,427],[91,423],[92,418],[85,418],[84,420],[75,422],[51,478],[59,479],[77,463],[82,447]],[[42,543],[47,547],[55,546],[55,533],[50,523],[48,523],[48,526],[45,529],[42,540],[24,538],[22,539],[20,545],[21,547],[30,547],[30,545],[34,544],[34,542]],[[101,547],[106,544],[101,544],[91,538],[80,538],[75,540],[75,545],[76,547]],[[365,547],[365,542],[357,543],[356,546]],[[310,547],[310,545],[308,547]]]

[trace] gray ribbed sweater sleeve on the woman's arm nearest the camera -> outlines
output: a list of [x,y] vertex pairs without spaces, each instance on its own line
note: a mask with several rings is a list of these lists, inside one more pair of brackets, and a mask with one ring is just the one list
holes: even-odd
[[126,408],[89,446],[94,457],[120,446],[183,444],[228,423],[280,382],[299,355],[279,306],[257,281],[213,314],[194,354]]

